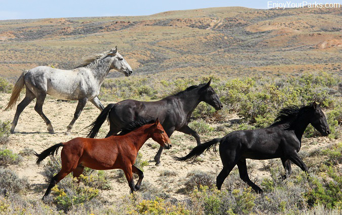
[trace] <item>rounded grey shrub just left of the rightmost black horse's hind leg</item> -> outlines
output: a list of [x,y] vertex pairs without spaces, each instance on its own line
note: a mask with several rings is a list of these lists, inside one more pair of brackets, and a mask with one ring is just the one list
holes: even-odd
[[195,188],[200,189],[200,186],[213,188],[215,185],[214,177],[206,172],[193,171],[188,173],[186,177],[189,178],[184,183],[187,192],[193,191]]

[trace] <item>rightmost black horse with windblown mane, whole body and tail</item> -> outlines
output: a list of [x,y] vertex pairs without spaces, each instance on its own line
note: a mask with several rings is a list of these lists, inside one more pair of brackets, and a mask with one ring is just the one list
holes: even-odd
[[184,157],[174,157],[174,159],[195,161],[205,150],[213,148],[216,152],[216,144],[219,142],[223,169],[216,178],[217,189],[221,189],[225,178],[234,166],[238,165],[240,178],[256,193],[262,193],[262,190],[248,177],[246,158],[255,160],[280,158],[286,171],[286,174],[281,177],[282,180],[291,174],[290,161],[308,172],[307,165],[297,154],[305,129],[311,123],[323,136],[330,133],[320,105],[321,103],[313,102],[311,105],[301,107],[288,106],[279,112],[275,122],[267,128],[233,131],[223,138],[215,138],[195,147]]

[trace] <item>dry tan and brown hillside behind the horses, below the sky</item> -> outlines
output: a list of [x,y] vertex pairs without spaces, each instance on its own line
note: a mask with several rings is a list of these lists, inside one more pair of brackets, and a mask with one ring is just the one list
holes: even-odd
[[15,79],[38,65],[70,69],[116,45],[135,76],[340,72],[341,14],[340,9],[232,7],[137,17],[5,20],[0,21],[0,76]]

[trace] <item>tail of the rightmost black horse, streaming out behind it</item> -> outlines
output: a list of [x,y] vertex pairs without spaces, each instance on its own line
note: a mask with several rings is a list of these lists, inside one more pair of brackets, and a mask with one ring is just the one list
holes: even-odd
[[208,152],[210,149],[213,149],[213,151],[216,153],[216,145],[221,141],[222,138],[215,138],[208,142],[205,142],[204,144],[201,144],[197,147],[195,147],[191,152],[184,157],[176,157],[172,156],[173,159],[177,161],[190,161],[194,162],[198,156],[200,156],[204,151]]

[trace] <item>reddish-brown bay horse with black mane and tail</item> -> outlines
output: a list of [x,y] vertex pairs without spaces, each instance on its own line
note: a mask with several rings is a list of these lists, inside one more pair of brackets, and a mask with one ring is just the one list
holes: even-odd
[[[125,172],[131,192],[140,189],[143,172],[134,166],[138,151],[147,139],[152,138],[161,147],[170,149],[171,142],[159,120],[139,120],[130,123],[122,129],[119,135],[109,136],[103,139],[76,137],[67,142],[56,144],[44,150],[37,156],[36,164],[40,164],[49,155],[61,151],[61,170],[51,178],[50,185],[43,199],[49,195],[51,189],[66,175],[72,172],[73,177],[79,177],[84,167],[92,169],[122,169]],[[132,172],[139,175],[137,184],[134,186]]]

